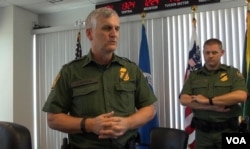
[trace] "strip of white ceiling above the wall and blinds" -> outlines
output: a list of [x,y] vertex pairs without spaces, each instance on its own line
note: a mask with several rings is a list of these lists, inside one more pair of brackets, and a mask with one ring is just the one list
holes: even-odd
[[0,0],[0,8],[15,5],[37,14],[54,13],[118,0]]

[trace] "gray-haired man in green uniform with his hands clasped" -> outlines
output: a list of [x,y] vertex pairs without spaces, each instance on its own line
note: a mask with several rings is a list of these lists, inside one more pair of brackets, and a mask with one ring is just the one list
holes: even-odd
[[89,14],[90,52],[62,67],[43,107],[49,127],[68,133],[72,149],[130,149],[137,128],[155,115],[157,99],[139,67],[114,54],[119,23],[109,8]]

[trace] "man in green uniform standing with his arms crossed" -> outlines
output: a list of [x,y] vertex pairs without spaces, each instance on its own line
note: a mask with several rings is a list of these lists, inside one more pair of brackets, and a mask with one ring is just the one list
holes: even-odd
[[247,99],[245,79],[238,69],[221,64],[222,42],[204,43],[202,68],[190,73],[180,94],[180,102],[192,108],[196,128],[196,149],[221,149],[223,132],[238,131],[240,102]]

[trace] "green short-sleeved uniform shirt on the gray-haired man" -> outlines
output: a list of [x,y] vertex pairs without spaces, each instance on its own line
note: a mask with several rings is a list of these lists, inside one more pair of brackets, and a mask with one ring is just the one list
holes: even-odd
[[[109,65],[101,66],[94,62],[90,52],[63,66],[43,111],[85,118],[114,111],[116,116],[126,117],[156,100],[135,63],[114,55]],[[69,134],[69,139],[80,148],[115,149],[122,148],[136,132],[128,131],[113,140],[99,140],[94,133]]]

